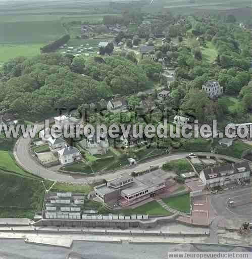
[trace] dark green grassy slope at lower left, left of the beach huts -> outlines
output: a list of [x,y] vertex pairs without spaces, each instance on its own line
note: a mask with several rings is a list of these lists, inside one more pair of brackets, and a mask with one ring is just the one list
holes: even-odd
[[[0,217],[32,217],[41,211],[44,187],[41,180],[0,171]],[[14,207],[14,208],[13,208]],[[15,208],[16,207],[16,208]]]

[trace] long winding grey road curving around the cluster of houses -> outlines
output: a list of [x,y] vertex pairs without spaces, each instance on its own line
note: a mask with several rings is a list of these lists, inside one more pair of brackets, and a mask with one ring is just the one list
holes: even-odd
[[[41,130],[43,128],[43,125],[38,126],[38,130]],[[121,174],[128,173],[130,174],[133,170],[139,171],[139,170],[147,170],[150,166],[161,166],[166,162],[177,160],[180,158],[184,158],[188,156],[188,153],[174,153],[169,154],[166,156],[158,157],[152,160],[149,160],[147,162],[139,163],[138,165],[134,167],[124,168],[113,172],[108,172],[108,174],[105,175],[95,175],[91,177],[86,176],[72,176],[67,174],[62,174],[57,171],[50,170],[49,168],[43,167],[41,164],[39,164],[33,157],[32,154],[29,151],[30,148],[30,142],[31,138],[23,138],[21,137],[15,147],[14,147],[14,156],[16,161],[27,171],[31,172],[32,174],[39,176],[44,179],[52,180],[52,181],[58,181],[58,182],[66,182],[66,183],[79,183],[79,184],[90,184],[94,181],[100,180],[100,179],[106,179],[111,180],[119,177]],[[219,155],[219,154],[211,154],[211,153],[204,153],[204,152],[197,152],[197,155],[215,155],[218,158],[224,158],[229,159],[234,162],[241,161],[240,159],[228,157],[225,155]]]

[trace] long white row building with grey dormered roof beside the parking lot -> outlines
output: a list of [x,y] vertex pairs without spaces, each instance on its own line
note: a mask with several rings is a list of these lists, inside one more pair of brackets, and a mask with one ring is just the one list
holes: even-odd
[[240,185],[240,182],[249,180],[250,171],[248,162],[240,162],[202,170],[199,178],[210,188],[235,182]]

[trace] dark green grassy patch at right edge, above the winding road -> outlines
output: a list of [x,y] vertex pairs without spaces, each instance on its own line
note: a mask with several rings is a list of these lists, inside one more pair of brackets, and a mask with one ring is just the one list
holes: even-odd
[[236,157],[236,158],[241,158],[242,153],[248,149],[252,149],[252,146],[244,143],[241,140],[234,141],[233,145],[231,147],[223,147],[220,145],[216,146],[216,152],[218,154],[232,156],[232,157]]

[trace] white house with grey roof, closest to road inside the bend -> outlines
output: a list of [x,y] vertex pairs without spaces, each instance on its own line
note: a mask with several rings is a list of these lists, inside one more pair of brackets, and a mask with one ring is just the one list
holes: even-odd
[[58,158],[62,165],[71,164],[81,160],[81,153],[75,147],[65,146],[58,151]]

